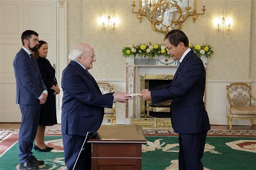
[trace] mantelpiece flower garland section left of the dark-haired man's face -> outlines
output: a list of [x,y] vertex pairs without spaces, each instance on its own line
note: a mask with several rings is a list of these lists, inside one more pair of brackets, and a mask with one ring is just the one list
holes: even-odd
[[139,45],[129,45],[128,47],[124,47],[122,50],[123,56],[129,57],[131,55],[153,58],[155,56],[166,56],[170,58],[170,55],[167,54],[166,47],[164,44],[152,44],[149,42],[147,45],[139,44]]

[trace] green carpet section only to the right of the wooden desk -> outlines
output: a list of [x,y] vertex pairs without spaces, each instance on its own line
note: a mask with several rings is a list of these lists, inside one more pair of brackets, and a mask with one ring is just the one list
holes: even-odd
[[[167,144],[178,144],[178,137],[146,137],[146,146],[149,146],[149,150],[152,147],[154,151],[142,152],[142,170],[178,170],[177,160],[178,152],[164,152],[167,148],[178,151],[178,146],[167,147]],[[162,140],[159,140],[162,139]],[[236,140],[256,140],[255,137],[207,137],[206,147],[204,149],[204,156],[202,163],[205,169],[211,170],[256,170],[256,153],[247,152],[243,150],[231,149],[225,143],[233,142]],[[158,142],[159,141],[159,142]],[[208,145],[209,144],[209,145]],[[150,145],[152,147],[150,147]],[[253,145],[254,151],[256,145]],[[145,148],[147,149],[147,148]],[[169,149],[171,150],[171,149]],[[171,161],[174,163],[172,164]]]

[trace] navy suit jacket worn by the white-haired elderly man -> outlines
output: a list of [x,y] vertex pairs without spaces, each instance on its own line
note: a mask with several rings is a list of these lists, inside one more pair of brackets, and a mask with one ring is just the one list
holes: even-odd
[[62,72],[61,130],[64,134],[85,136],[96,132],[103,120],[104,107],[112,108],[113,93],[102,95],[95,79],[75,61]]

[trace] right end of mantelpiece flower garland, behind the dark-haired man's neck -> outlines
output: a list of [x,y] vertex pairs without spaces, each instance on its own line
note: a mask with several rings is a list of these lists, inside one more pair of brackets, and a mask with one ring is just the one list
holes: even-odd
[[191,43],[189,43],[189,48],[191,48],[191,50],[194,51],[194,53],[196,53],[197,56],[206,56],[211,58],[211,54],[213,54],[214,51],[212,51],[212,47],[210,45],[193,45]]

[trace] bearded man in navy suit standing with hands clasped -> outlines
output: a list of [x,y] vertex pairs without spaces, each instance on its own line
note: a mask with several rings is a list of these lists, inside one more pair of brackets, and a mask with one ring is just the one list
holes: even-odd
[[47,88],[41,78],[37,63],[31,54],[38,50],[38,34],[32,30],[22,33],[22,48],[16,54],[13,68],[16,79],[16,103],[20,105],[21,125],[18,137],[19,169],[38,169],[44,161],[32,154],[33,140],[37,133],[40,104],[47,98]]

